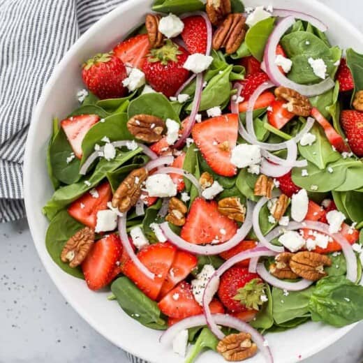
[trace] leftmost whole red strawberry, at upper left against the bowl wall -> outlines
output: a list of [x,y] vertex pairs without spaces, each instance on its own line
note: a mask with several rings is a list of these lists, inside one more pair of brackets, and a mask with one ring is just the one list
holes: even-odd
[[122,81],[126,67],[112,53],[96,54],[82,66],[82,79],[89,91],[98,98],[118,98],[127,94]]

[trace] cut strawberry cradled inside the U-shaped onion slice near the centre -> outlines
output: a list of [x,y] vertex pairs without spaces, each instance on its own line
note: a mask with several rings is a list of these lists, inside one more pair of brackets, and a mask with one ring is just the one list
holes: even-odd
[[219,213],[216,202],[195,198],[180,236],[193,244],[208,244],[216,240],[225,242],[236,231],[235,221]]

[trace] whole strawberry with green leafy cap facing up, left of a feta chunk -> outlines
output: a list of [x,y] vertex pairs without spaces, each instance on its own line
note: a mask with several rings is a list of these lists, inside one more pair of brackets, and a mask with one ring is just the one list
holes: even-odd
[[188,79],[189,72],[183,68],[189,53],[184,47],[167,40],[163,47],[152,49],[142,66],[147,83],[165,96],[174,96]]

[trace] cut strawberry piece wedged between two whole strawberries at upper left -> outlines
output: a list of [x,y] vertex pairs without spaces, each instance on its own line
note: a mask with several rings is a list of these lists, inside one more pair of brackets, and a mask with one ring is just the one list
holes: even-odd
[[116,45],[113,52],[124,64],[132,64],[141,69],[149,50],[150,44],[147,34],[139,34]]

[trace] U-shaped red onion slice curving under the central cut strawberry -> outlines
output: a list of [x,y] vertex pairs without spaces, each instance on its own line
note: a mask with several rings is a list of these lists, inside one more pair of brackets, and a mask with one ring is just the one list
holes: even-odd
[[169,227],[168,222],[161,223],[160,227],[161,230],[163,230],[165,237],[168,238],[168,241],[177,246],[179,249],[195,253],[196,255],[218,255],[218,253],[228,251],[229,249],[237,246],[239,242],[243,241],[252,227],[252,211],[252,202],[247,202],[247,213],[243,225],[237,230],[236,234],[229,241],[223,242],[221,244],[207,244],[205,246],[191,244],[185,239],[182,239],[182,237],[176,235],[175,232],[173,232]]

